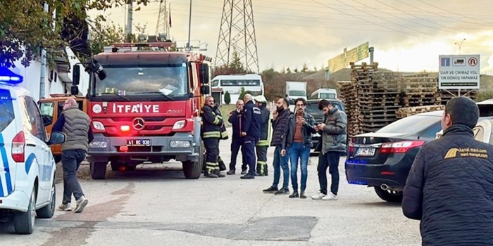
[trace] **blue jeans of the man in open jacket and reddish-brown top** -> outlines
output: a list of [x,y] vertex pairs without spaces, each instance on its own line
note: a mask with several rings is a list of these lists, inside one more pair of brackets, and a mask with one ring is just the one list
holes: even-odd
[[289,160],[291,161],[291,183],[293,190],[298,190],[298,160],[301,161],[301,191],[306,188],[306,179],[308,177],[308,158],[310,157],[310,148],[304,143],[293,143],[289,148]]

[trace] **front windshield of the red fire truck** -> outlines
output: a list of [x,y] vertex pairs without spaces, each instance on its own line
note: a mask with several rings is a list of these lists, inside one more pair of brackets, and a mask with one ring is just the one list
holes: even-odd
[[106,79],[96,80],[92,96],[152,96],[166,98],[187,96],[186,63],[151,66],[106,66]]

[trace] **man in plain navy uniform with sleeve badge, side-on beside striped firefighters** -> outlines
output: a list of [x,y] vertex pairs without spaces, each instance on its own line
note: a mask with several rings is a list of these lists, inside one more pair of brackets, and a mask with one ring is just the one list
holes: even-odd
[[242,176],[242,179],[255,179],[255,145],[260,139],[261,110],[254,104],[250,94],[245,94],[243,101],[245,103],[243,107],[245,123],[242,136],[245,137],[243,147],[246,161],[249,165],[249,171],[248,174]]

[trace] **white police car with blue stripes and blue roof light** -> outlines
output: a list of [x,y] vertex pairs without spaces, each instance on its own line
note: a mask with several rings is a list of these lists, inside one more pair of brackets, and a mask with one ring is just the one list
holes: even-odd
[[35,217],[51,218],[55,209],[55,161],[49,143],[65,134],[46,131],[29,91],[16,86],[23,77],[0,67],[0,223],[13,216],[15,233],[34,231]]

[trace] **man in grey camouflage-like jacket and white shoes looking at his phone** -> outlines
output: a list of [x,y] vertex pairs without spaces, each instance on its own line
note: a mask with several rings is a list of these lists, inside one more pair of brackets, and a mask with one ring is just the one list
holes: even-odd
[[[337,200],[339,190],[339,157],[346,152],[347,116],[346,113],[337,110],[327,100],[318,103],[318,109],[325,115],[325,123],[318,124],[322,148],[318,157],[318,182],[320,193],[313,195],[313,200]],[[319,143],[320,144],[320,143]],[[327,194],[327,167],[332,178],[330,194]]]

